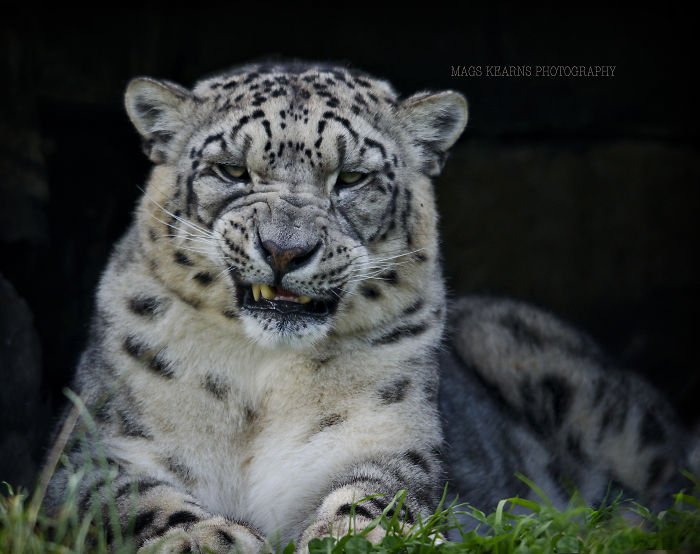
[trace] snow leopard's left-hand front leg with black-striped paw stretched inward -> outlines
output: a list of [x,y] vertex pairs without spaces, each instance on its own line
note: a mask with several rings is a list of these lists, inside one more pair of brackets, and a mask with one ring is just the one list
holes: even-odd
[[[96,321],[103,329],[104,322]],[[190,490],[187,471],[174,460],[153,456],[145,448],[152,433],[139,417],[128,387],[122,380],[109,379],[113,364],[103,352],[104,337],[96,335],[102,338],[92,337],[79,368],[84,413],[77,424],[70,422],[72,414],[64,420],[65,463],[51,478],[44,507],[58,513],[70,502],[71,480],[80,476],[74,499],[77,515],[83,519],[92,514],[110,547],[118,544],[119,534],[144,554],[269,550],[253,526],[203,507]]]

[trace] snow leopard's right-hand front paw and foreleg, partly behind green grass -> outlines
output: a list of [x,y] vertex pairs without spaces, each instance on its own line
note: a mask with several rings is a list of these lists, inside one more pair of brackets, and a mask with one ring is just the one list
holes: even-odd
[[[306,552],[315,538],[362,532],[382,513],[391,518],[396,510],[405,529],[410,529],[419,517],[435,509],[440,473],[435,452],[417,451],[375,457],[348,468],[327,487],[297,543],[297,551]],[[405,491],[405,497],[397,496],[400,491]],[[378,525],[366,538],[378,543],[384,535],[385,530]]]

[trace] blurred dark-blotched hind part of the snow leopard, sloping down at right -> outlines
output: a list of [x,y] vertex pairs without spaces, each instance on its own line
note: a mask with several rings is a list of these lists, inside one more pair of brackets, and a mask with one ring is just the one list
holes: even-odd
[[590,337],[527,304],[487,297],[456,302],[451,329],[463,370],[549,454],[545,482],[573,484],[591,502],[612,483],[654,507],[689,488],[680,470],[698,470],[700,440],[688,447],[666,399]]

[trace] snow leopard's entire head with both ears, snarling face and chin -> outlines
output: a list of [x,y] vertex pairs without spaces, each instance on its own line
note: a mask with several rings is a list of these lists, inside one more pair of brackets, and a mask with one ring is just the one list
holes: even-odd
[[136,79],[126,107],[157,164],[146,250],[193,305],[308,345],[441,294],[430,178],[466,124],[460,94],[272,64],[192,91]]

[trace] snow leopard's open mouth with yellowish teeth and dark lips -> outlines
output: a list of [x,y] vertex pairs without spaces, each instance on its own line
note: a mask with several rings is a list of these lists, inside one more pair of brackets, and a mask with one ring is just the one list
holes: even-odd
[[267,312],[273,317],[325,318],[338,307],[338,300],[297,295],[282,287],[263,283],[239,285],[239,305],[246,310]]

